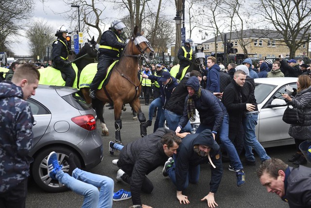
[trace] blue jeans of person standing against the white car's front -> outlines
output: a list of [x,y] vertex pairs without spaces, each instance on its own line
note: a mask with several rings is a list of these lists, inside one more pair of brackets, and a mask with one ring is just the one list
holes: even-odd
[[248,113],[243,119],[244,127],[244,148],[245,148],[245,157],[248,161],[255,161],[252,148],[257,152],[260,157],[260,160],[263,162],[270,157],[267,155],[266,151],[263,149],[261,144],[256,138],[255,129],[258,120],[258,113]]

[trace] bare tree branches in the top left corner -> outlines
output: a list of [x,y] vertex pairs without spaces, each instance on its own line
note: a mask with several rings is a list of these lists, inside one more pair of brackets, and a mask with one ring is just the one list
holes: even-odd
[[33,0],[0,0],[0,51],[7,51],[25,19],[32,16]]

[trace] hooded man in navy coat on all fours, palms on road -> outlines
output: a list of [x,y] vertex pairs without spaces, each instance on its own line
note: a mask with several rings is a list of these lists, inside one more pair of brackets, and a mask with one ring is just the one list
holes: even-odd
[[189,182],[198,183],[200,164],[208,163],[211,170],[209,192],[201,201],[207,200],[208,207],[215,207],[217,204],[214,194],[223,176],[223,165],[220,148],[210,130],[187,135],[179,145],[177,153],[174,153],[173,160],[169,159],[165,163],[163,175],[170,176],[176,186],[177,199],[180,203],[189,203],[188,196],[182,195],[182,191],[187,189]]

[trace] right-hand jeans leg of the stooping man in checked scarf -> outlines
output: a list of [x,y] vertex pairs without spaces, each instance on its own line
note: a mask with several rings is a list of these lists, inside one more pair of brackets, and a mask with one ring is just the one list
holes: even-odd
[[231,140],[229,139],[229,115],[224,115],[223,124],[220,128],[220,141],[222,145],[225,147],[225,151],[230,159],[230,165],[233,167],[234,170],[242,170],[243,166],[238,155],[237,150],[235,149],[234,145],[232,144]]

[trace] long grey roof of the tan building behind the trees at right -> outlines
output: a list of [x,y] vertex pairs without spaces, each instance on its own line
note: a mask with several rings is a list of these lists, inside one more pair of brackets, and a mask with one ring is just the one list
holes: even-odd
[[[217,37],[217,42],[222,41],[224,35],[227,35],[227,40],[230,38],[230,33],[222,33]],[[223,38],[222,38],[223,37]],[[263,30],[263,29],[248,29],[242,31],[234,31],[231,32],[231,40],[239,39],[239,38],[269,38],[269,39],[283,39],[284,37],[278,33],[276,30]],[[298,36],[297,38],[302,38],[302,36]],[[202,43],[210,43],[215,42],[215,37],[210,38]]]

